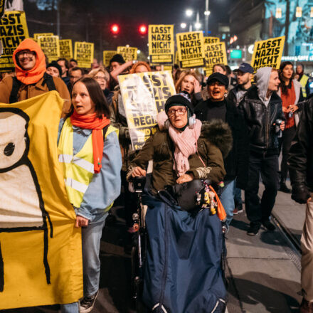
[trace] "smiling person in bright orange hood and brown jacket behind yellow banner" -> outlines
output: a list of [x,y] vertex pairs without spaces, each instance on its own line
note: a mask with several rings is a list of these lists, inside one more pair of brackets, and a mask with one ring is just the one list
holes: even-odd
[[13,61],[16,78],[1,80],[0,102],[14,103],[56,90],[64,100],[64,116],[70,108],[70,93],[61,78],[46,73],[46,58],[38,43],[30,38],[22,41],[13,53]]

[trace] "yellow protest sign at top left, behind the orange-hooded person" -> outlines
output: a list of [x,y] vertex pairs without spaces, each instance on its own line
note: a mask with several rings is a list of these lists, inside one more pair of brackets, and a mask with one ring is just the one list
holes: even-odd
[[14,50],[29,37],[25,12],[6,11],[0,19],[0,37],[4,49],[0,58],[0,72],[8,72],[14,70]]

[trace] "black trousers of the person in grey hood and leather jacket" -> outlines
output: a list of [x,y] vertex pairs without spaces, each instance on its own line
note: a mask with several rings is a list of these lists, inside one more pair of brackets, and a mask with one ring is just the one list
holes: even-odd
[[[245,189],[245,211],[250,223],[261,224],[270,218],[270,213],[275,204],[277,195],[279,175],[278,156],[266,154],[250,154],[249,177]],[[265,191],[262,198],[258,197],[260,174]]]

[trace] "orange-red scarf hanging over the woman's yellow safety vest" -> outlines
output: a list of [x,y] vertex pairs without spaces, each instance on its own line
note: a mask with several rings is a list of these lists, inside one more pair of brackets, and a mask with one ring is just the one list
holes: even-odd
[[95,173],[99,173],[102,167],[102,154],[103,154],[103,134],[101,130],[110,124],[110,120],[102,115],[102,119],[96,117],[96,113],[79,115],[73,112],[70,116],[70,122],[77,127],[84,129],[92,129],[92,152],[93,152],[93,164]]

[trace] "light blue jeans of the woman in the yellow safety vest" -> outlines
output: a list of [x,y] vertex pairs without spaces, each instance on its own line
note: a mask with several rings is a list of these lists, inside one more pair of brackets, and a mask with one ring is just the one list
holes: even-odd
[[[105,218],[108,213],[105,213]],[[100,281],[100,240],[105,219],[82,228],[84,297],[94,295]],[[78,313],[79,302],[61,304],[62,313]]]

